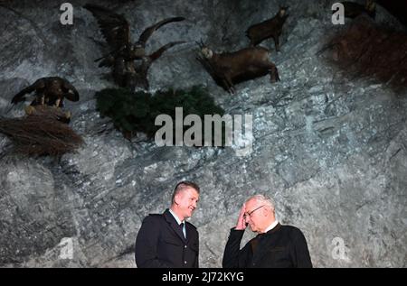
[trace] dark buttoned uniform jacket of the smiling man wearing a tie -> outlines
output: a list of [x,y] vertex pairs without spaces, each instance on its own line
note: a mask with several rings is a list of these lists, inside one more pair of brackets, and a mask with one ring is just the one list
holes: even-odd
[[168,209],[143,220],[136,240],[137,267],[198,267],[199,238],[185,222],[186,239]]

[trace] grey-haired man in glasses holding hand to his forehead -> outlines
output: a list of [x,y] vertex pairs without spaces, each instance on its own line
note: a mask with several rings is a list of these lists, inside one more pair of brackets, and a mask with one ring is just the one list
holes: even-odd
[[[240,249],[246,226],[259,235]],[[307,241],[294,226],[282,226],[275,217],[271,198],[256,195],[241,207],[237,225],[231,229],[224,249],[222,266],[312,267]]]

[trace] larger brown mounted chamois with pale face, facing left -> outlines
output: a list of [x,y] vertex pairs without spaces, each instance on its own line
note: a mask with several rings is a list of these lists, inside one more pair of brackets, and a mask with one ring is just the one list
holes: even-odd
[[272,63],[270,51],[263,47],[250,47],[240,51],[216,53],[204,42],[198,43],[201,54],[197,57],[218,85],[231,94],[234,83],[270,74],[270,81],[279,81],[279,72]]

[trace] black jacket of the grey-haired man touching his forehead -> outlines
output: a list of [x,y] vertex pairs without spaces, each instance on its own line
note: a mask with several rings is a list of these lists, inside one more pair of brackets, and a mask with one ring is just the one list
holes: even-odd
[[223,267],[312,267],[307,241],[297,227],[278,224],[240,249],[243,234],[244,230],[231,229],[224,249]]

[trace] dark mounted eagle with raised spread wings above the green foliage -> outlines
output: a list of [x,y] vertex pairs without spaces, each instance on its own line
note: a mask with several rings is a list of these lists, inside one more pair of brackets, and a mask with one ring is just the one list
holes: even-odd
[[141,33],[138,41],[133,43],[130,38],[130,25],[123,14],[116,14],[99,5],[84,5],[98,20],[99,28],[109,44],[108,54],[95,60],[99,67],[112,69],[113,78],[122,88],[148,89],[147,72],[154,60],[164,51],[184,42],[169,42],[157,51],[147,55],[146,43],[157,29],[166,23],[184,21],[184,17],[172,17],[149,26]]

